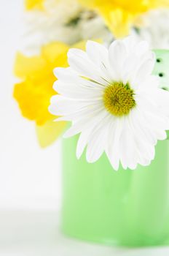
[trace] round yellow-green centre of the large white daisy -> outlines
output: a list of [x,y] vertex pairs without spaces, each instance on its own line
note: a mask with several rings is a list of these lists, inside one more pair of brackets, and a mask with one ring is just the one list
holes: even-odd
[[129,84],[114,82],[107,86],[103,94],[103,103],[106,110],[114,116],[124,116],[135,107],[134,91]]

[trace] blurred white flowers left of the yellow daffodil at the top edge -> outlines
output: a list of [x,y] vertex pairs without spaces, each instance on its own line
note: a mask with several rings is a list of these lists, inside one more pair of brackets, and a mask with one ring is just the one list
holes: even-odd
[[[26,6],[30,4],[27,1]],[[72,45],[82,39],[112,39],[97,12],[83,7],[78,0],[43,1],[43,9],[25,12],[24,19],[23,50],[28,54],[37,53],[39,47],[56,40]]]

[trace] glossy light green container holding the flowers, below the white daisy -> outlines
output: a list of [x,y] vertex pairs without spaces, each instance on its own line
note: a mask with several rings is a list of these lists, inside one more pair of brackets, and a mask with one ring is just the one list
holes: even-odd
[[[165,61],[154,72],[167,72]],[[157,143],[148,167],[115,172],[106,155],[93,164],[85,154],[77,160],[77,138],[63,140],[63,232],[105,244],[168,244],[169,140]]]

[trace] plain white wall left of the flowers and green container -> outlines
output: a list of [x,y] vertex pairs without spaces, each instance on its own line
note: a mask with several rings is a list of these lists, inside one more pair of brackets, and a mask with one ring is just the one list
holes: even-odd
[[60,143],[39,148],[34,123],[12,98],[23,0],[0,0],[0,208],[59,208]]

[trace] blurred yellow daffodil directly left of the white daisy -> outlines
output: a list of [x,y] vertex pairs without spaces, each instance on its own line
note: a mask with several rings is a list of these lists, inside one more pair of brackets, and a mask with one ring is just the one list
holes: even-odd
[[[76,44],[83,48],[84,42]],[[53,69],[67,67],[68,45],[53,42],[42,47],[39,56],[24,56],[17,53],[15,61],[15,75],[21,79],[15,84],[14,97],[25,118],[36,122],[41,146],[52,143],[66,123],[53,122],[54,117],[49,113],[50,97],[55,94],[52,85],[55,81]]]

